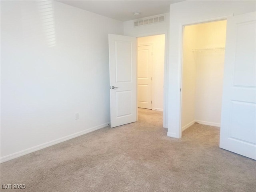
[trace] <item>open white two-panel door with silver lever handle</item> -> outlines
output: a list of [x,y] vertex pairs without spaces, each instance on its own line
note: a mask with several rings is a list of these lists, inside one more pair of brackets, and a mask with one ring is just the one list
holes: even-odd
[[108,35],[111,127],[136,121],[136,38]]

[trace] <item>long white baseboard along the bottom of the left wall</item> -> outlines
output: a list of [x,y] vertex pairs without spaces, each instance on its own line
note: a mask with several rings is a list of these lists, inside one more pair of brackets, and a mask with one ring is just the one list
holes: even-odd
[[43,144],[31,147],[31,148],[28,148],[28,149],[16,152],[16,153],[13,153],[13,154],[10,154],[10,155],[3,156],[3,157],[0,158],[0,163],[3,163],[3,162],[6,162],[6,161],[9,161],[9,160],[18,158],[20,156],[23,156],[23,155],[26,155],[26,154],[29,154],[29,153],[32,153],[32,152],[35,152],[35,151],[38,151],[38,150],[41,150],[41,149],[46,148],[46,147],[50,147],[52,145],[64,142],[66,140],[70,140],[72,138],[84,135],[86,133],[90,133],[90,132],[96,131],[98,129],[107,127],[109,124],[110,124],[110,122],[107,122],[107,123],[104,123],[104,124],[101,124],[101,125],[98,125],[98,126],[86,129],[86,130],[82,130],[80,132],[76,132],[76,133],[71,134],[71,135],[68,135],[68,136],[56,139],[56,140],[52,140],[52,141],[49,141],[49,142],[46,142],[46,143],[43,143]]

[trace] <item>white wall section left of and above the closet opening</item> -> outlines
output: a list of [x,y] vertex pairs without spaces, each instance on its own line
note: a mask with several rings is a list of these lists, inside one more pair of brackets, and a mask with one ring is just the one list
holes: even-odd
[[168,69],[168,133],[181,137],[180,86],[182,70],[183,25],[216,20],[256,10],[255,1],[183,1],[170,4],[169,69]]

